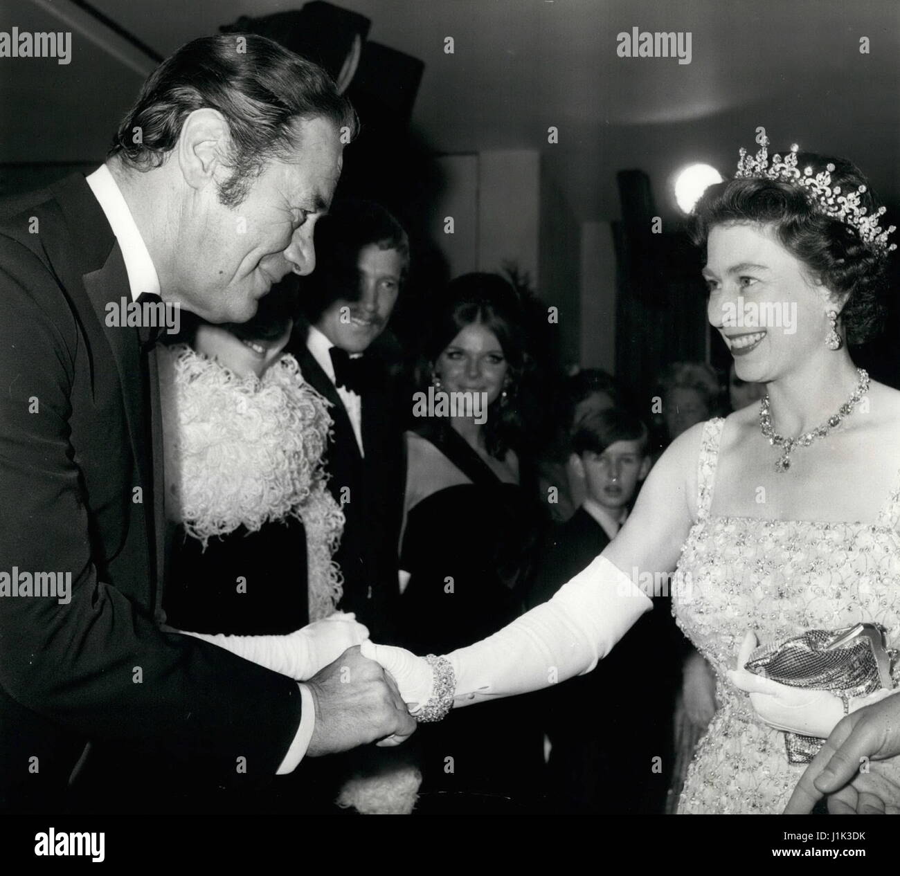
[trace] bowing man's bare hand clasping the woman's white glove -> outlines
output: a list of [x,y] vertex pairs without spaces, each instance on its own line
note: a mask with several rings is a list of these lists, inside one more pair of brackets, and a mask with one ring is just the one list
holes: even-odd
[[396,685],[382,666],[360,654],[358,645],[305,684],[316,705],[308,757],[333,755],[385,737],[402,741],[416,729]]

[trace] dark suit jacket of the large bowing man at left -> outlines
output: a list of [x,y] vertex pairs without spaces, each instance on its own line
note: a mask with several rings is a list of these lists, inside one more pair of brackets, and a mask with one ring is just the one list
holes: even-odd
[[0,219],[0,572],[70,572],[72,587],[68,604],[0,596],[0,808],[67,805],[87,742],[82,777],[110,750],[126,778],[144,753],[275,773],[297,685],[157,629],[153,356],[104,324],[130,299],[112,229],[82,176],[17,210]]

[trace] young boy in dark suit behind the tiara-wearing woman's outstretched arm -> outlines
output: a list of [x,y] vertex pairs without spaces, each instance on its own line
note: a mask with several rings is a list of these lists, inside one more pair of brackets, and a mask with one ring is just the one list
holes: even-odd
[[[620,408],[576,426],[571,461],[587,495],[556,533],[533,604],[550,599],[616,537],[650,471],[647,442],[646,426]],[[593,672],[548,692],[549,783],[563,809],[662,813],[672,759],[670,675],[678,666],[673,631],[669,601],[654,600]]]

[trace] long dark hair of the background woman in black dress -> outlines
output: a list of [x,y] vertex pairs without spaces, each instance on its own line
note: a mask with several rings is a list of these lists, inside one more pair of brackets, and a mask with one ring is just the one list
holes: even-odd
[[496,273],[466,273],[447,284],[432,310],[416,377],[427,389],[437,357],[466,326],[475,324],[496,335],[509,363],[506,402],[500,397],[491,404],[484,425],[488,452],[503,459],[519,444],[524,424],[516,394],[534,367],[527,350],[525,314],[509,282]]

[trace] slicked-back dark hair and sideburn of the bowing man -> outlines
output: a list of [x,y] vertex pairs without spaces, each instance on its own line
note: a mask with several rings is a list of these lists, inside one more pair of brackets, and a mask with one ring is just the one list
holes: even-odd
[[297,121],[323,118],[347,139],[356,135],[356,113],[329,75],[272,40],[229,33],[193,40],[166,58],[140,89],[122,120],[109,156],[135,170],[162,165],[187,116],[218,110],[231,137],[220,201],[236,207],[274,158],[295,160]]

